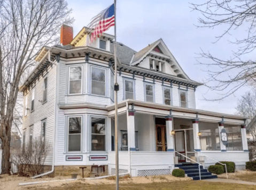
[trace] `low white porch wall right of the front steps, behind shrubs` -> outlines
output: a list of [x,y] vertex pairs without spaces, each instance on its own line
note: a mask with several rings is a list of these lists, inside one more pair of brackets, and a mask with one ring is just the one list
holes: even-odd
[[[197,154],[197,153],[196,153]],[[231,161],[237,165],[245,165],[245,162],[249,161],[248,152],[202,152],[202,154],[214,159],[216,161]],[[198,156],[203,156],[198,154]],[[205,166],[214,165],[216,162],[205,157]]]

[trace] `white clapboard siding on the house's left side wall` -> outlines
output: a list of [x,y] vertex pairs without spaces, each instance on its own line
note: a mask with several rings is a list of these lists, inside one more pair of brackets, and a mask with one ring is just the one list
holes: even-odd
[[[42,104],[43,100],[43,82],[48,77],[47,102]],[[53,147],[53,129],[55,120],[55,89],[56,89],[56,66],[48,68],[48,73],[44,72],[44,77],[40,76],[40,80],[35,85],[34,111],[31,112],[32,89],[28,92],[28,110],[27,116],[23,118],[23,129],[26,129],[26,142],[29,140],[29,126],[33,125],[33,139],[40,138],[42,129],[42,120],[46,119],[45,141]],[[25,96],[26,97],[26,96]],[[24,99],[25,100],[25,99]],[[24,101],[25,102],[25,101]],[[45,165],[52,164],[52,147],[49,155],[45,160]]]

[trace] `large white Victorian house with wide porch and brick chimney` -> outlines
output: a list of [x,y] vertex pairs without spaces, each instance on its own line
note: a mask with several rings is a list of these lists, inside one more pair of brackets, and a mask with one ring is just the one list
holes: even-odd
[[[71,39],[61,38],[62,45],[43,47],[37,55],[37,67],[20,87],[22,145],[41,137],[53,145],[46,165],[106,165],[114,174],[114,36],[90,43],[88,30],[73,39],[73,29],[63,26],[61,36]],[[201,154],[245,168],[247,118],[197,110],[195,90],[202,84],[185,74],[162,39],[139,52],[117,43],[117,55],[120,172],[169,174],[174,156],[189,162],[182,155]],[[205,166],[211,164],[206,158]]]

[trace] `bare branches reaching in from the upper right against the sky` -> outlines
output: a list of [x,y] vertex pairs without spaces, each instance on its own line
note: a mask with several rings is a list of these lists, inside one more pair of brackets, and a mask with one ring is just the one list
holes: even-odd
[[241,39],[234,38],[234,41],[229,42],[237,48],[230,59],[221,59],[203,50],[199,53],[200,57],[210,60],[210,63],[199,62],[211,67],[207,71],[208,77],[205,83],[211,90],[222,95],[216,100],[228,97],[246,84],[255,83],[255,60],[246,59],[245,55],[251,53],[254,57],[255,54],[256,1],[206,0],[203,4],[190,4],[192,10],[201,13],[197,27],[223,29],[222,34],[216,36],[216,42],[226,35],[231,35],[236,29],[244,30],[243,35],[239,36]]

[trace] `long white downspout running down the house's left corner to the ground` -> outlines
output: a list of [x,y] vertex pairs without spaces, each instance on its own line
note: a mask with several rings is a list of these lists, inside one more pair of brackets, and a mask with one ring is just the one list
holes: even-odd
[[[51,48],[52,49],[52,48]],[[40,174],[40,175],[37,175],[37,176],[33,176],[31,177],[32,179],[34,178],[38,178],[38,177],[42,177],[42,176],[45,176],[45,175],[48,175],[48,174],[51,174],[53,171],[54,171],[54,164],[55,164],[55,145],[56,145],[56,142],[55,142],[55,136],[56,136],[56,119],[57,119],[57,109],[56,109],[56,100],[57,100],[57,84],[58,84],[58,63],[54,63],[51,61],[51,49],[49,49],[49,53],[48,53],[48,61],[52,64],[55,64],[56,65],[56,80],[55,80],[55,101],[54,101],[54,112],[55,112],[55,120],[54,120],[54,124],[53,124],[53,147],[52,147],[52,168],[51,168],[51,171],[48,171],[48,172],[45,172],[44,174]]]

